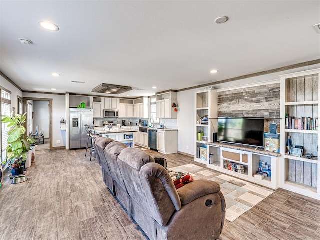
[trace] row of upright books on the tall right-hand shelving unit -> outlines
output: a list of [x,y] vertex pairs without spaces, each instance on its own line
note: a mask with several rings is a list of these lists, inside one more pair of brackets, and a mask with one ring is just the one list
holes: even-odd
[[318,118],[295,118],[294,116],[286,116],[285,128],[298,130],[318,130]]

